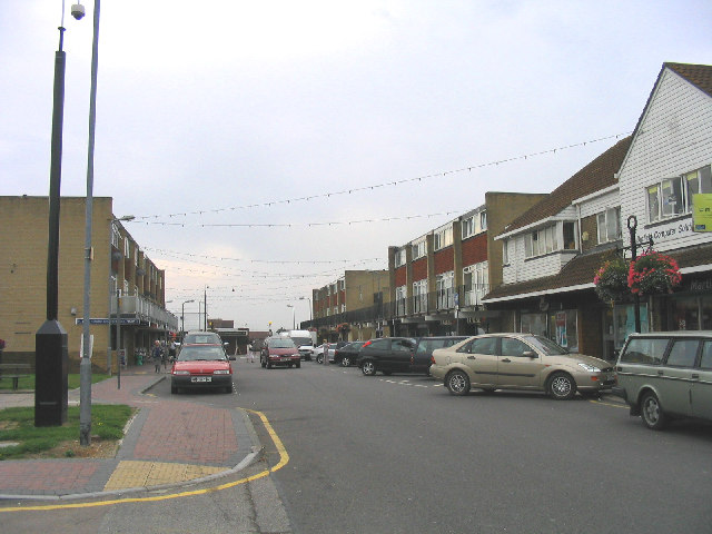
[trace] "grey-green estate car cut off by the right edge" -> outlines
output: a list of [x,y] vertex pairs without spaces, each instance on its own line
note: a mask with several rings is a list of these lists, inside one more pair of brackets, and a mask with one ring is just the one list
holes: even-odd
[[676,417],[712,421],[712,332],[631,334],[615,370],[613,393],[649,428]]

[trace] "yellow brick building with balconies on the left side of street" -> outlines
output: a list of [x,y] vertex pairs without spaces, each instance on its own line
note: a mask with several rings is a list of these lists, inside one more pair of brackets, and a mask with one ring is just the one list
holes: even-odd
[[[77,370],[83,320],[86,198],[62,197],[58,320],[67,330],[69,367]],[[0,197],[0,338],[4,360],[34,363],[34,336],[47,318],[48,197]],[[116,309],[120,290],[121,347],[128,363],[155,339],[178,329],[165,307],[165,271],[112,214],[112,199],[93,199],[91,264],[92,367],[117,370]]]

